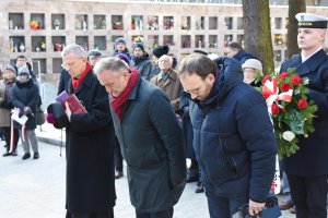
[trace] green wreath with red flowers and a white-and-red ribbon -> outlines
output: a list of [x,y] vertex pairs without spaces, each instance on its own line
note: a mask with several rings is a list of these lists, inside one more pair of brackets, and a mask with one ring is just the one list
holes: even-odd
[[308,78],[302,78],[295,69],[281,74],[272,73],[261,80],[258,88],[266,99],[278,142],[278,154],[290,157],[300,147],[300,137],[308,137],[314,132],[313,118],[317,106],[307,97]]

